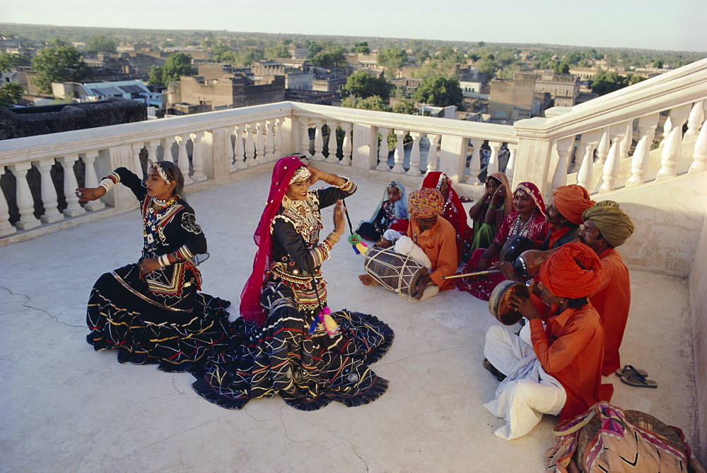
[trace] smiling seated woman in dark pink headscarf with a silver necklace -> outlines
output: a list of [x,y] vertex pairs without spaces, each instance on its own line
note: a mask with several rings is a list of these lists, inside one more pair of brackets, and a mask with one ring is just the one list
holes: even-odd
[[[498,253],[508,238],[514,235],[532,240],[539,246],[547,237],[549,226],[545,221],[545,204],[537,186],[532,182],[521,182],[513,192],[513,212],[503,221],[501,228],[496,233],[496,238],[488,248],[474,251],[469,262],[461,270],[463,273],[484,271],[498,260]],[[505,278],[503,274],[489,274],[486,276],[465,276],[457,279],[457,288],[467,291],[472,296],[482,300],[489,300],[491,291]]]

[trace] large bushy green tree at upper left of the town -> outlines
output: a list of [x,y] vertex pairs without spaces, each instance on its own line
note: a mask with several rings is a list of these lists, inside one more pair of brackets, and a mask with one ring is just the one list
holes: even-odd
[[33,83],[42,93],[52,93],[52,82],[81,82],[91,76],[81,53],[73,46],[51,46],[42,49],[32,61],[37,71]]

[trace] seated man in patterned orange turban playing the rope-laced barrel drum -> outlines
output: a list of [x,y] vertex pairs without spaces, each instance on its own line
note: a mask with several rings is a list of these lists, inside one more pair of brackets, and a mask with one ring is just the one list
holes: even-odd
[[[439,291],[454,287],[453,281],[442,279],[442,276],[451,276],[457,269],[457,233],[454,227],[440,216],[443,208],[444,200],[437,189],[425,188],[410,194],[410,223],[407,235],[411,243],[419,247],[431,263],[431,272],[421,278],[416,286],[416,300],[430,298]],[[390,247],[400,238],[406,237],[395,230],[387,230],[378,245]],[[358,279],[366,286],[378,284],[370,274],[361,274]]]

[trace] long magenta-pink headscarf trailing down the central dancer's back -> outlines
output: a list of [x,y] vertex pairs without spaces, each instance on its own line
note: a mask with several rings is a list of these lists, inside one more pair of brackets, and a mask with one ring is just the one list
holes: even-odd
[[240,293],[240,315],[244,320],[256,322],[258,325],[263,325],[267,317],[265,310],[260,305],[260,294],[265,281],[265,271],[270,267],[272,257],[270,226],[280,209],[282,198],[287,192],[292,176],[303,166],[305,163],[300,161],[297,156],[281,158],[275,163],[265,209],[253,235],[258,250],[253,259],[253,271]]

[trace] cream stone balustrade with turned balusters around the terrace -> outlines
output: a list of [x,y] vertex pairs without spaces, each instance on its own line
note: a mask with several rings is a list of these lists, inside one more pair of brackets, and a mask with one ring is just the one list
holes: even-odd
[[[513,127],[284,102],[4,140],[0,245],[133,209],[134,197],[122,186],[83,206],[74,189],[97,185],[119,166],[143,176],[147,158],[177,163],[192,192],[266,172],[291,153],[382,182],[417,184],[428,171],[443,170],[463,187],[479,184],[486,144],[489,173],[501,165],[510,180],[535,182],[546,195],[567,182],[600,192],[641,185],[707,168],[705,99],[707,60]],[[658,128],[661,159],[651,169]],[[694,151],[683,169],[684,143]]]

